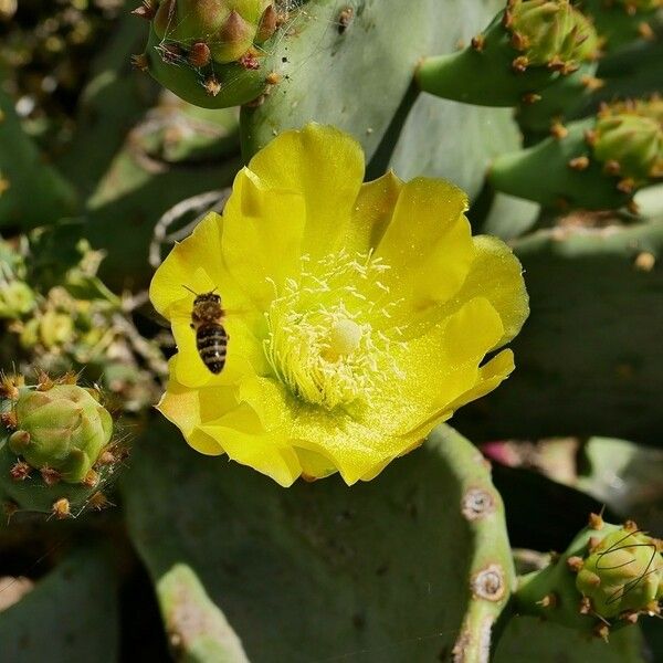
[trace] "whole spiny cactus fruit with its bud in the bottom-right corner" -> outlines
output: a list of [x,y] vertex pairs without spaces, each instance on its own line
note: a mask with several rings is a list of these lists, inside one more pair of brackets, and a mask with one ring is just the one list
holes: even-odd
[[661,614],[662,545],[632,522],[589,525],[546,568],[520,578],[516,610],[607,638],[611,628]]

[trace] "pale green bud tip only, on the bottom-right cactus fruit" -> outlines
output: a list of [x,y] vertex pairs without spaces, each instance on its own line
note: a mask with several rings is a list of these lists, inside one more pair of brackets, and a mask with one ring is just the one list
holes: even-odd
[[661,543],[632,528],[608,534],[585,559],[576,587],[604,619],[653,612],[663,598]]

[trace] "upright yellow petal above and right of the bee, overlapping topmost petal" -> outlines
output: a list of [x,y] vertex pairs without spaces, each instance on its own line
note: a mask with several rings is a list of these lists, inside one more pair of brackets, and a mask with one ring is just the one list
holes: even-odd
[[305,202],[295,191],[271,189],[250,170],[239,172],[223,210],[224,262],[260,309],[287,277],[297,276]]

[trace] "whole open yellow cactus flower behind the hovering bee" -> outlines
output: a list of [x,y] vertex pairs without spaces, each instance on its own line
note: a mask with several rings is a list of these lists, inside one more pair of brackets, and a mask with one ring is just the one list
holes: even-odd
[[[281,134],[155,274],[179,350],[158,407],[193,449],[283,486],[336,471],[352,484],[513,370],[511,350],[482,364],[528,314],[509,249],[472,238],[449,182],[362,177],[350,136]],[[190,325],[210,291],[229,335],[218,375]]]

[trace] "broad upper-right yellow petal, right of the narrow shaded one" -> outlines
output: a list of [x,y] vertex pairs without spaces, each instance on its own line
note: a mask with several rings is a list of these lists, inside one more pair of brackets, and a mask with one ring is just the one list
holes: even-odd
[[400,192],[376,250],[391,269],[380,280],[389,299],[402,299],[393,324],[452,297],[474,259],[467,198],[443,180],[417,178]]

